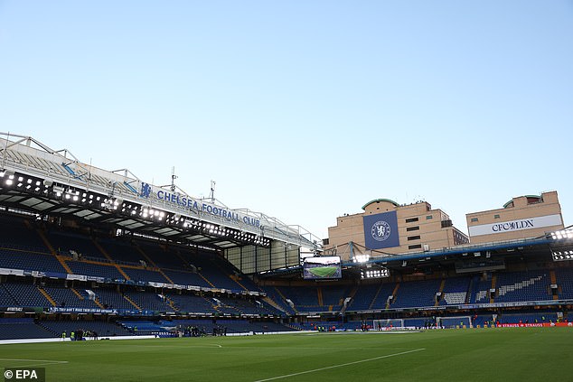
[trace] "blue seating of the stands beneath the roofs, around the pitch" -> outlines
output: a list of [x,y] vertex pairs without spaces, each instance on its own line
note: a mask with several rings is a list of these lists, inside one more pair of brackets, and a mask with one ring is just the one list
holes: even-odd
[[[568,319],[567,310],[558,315],[549,304],[543,309],[532,306],[573,300],[573,268],[567,265],[532,265],[531,270],[519,265],[521,270],[509,267],[468,275],[452,272],[427,275],[425,280],[406,277],[409,281],[399,281],[401,277],[321,283],[277,279],[257,284],[210,250],[143,238],[126,241],[101,232],[91,236],[24,221],[0,215],[0,227],[7,233],[0,239],[0,268],[25,271],[0,275],[3,340],[54,338],[61,331],[78,329],[97,331],[99,336],[174,336],[174,328],[185,332],[192,326],[204,334],[221,328],[248,333],[308,330],[315,325],[360,331],[363,321],[356,317],[362,311],[375,311],[381,319],[402,317],[405,326],[415,328],[435,323],[437,316],[447,316],[448,327],[459,326],[460,318],[468,316],[474,326],[496,321],[556,322]],[[39,273],[60,278],[52,280]],[[179,289],[169,289],[174,287],[171,284]],[[344,306],[349,297],[350,303]],[[482,304],[492,303],[510,304],[512,309],[500,305],[493,312],[480,310]],[[518,309],[514,303],[527,306]],[[463,315],[449,313],[465,305],[471,307]],[[416,313],[418,308],[423,308],[423,314]],[[19,317],[6,318],[3,312],[8,309]],[[88,320],[78,320],[74,310]],[[176,319],[159,321],[162,314]],[[305,321],[311,314],[329,320]],[[348,314],[349,321],[341,321],[341,314]],[[188,318],[192,316],[196,317]]]

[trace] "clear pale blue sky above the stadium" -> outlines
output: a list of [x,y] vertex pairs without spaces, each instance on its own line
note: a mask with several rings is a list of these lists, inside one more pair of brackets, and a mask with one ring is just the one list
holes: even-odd
[[0,0],[0,131],[319,238],[378,198],[570,225],[573,2]]

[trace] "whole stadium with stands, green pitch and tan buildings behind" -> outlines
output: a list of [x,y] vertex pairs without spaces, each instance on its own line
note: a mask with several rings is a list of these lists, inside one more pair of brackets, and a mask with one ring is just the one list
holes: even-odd
[[378,199],[316,238],[188,195],[175,174],[157,185],[0,137],[6,370],[62,381],[570,379],[573,229],[557,191],[468,213],[469,236],[426,201]]

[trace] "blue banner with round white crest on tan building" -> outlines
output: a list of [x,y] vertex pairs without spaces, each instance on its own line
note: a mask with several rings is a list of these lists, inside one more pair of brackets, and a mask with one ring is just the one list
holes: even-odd
[[399,247],[396,211],[367,215],[364,220],[364,244],[369,249]]

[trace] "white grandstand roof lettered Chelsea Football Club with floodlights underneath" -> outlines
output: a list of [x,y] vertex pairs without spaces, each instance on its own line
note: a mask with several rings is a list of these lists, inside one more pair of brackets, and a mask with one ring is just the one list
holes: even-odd
[[102,170],[32,136],[0,136],[0,205],[5,209],[67,216],[217,249],[268,247],[271,240],[314,250],[321,245],[304,228],[262,212],[194,198],[173,183],[157,186],[127,169]]

